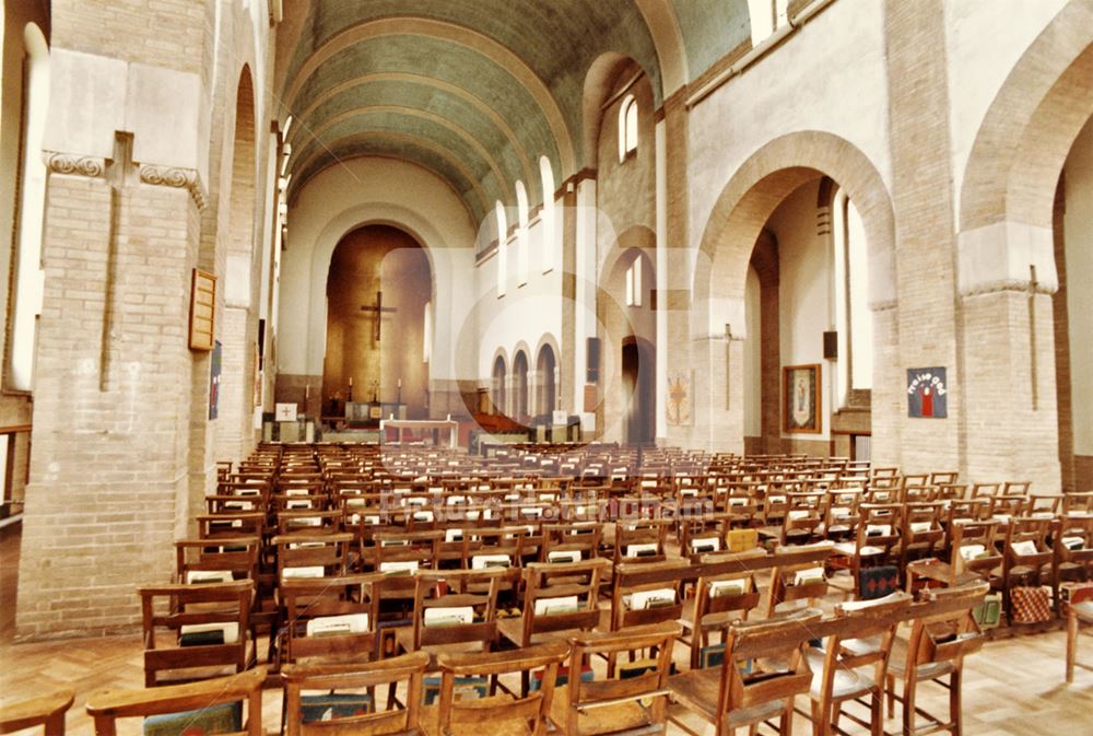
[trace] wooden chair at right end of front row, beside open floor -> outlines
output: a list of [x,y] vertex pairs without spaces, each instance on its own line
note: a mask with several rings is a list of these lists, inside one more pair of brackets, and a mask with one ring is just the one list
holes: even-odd
[[[910,628],[910,636],[905,649],[896,649],[888,670],[889,715],[893,713],[895,700],[903,704],[903,733],[916,736],[924,729],[917,726],[917,715],[929,720],[925,733],[948,731],[954,736],[962,733],[961,692],[964,673],[964,657],[983,647],[984,635],[979,631],[972,609],[983,601],[990,591],[986,583],[962,587],[924,591],[921,608]],[[939,600],[948,606],[945,612],[931,614],[931,607]],[[949,681],[943,681],[948,678]],[[896,696],[895,681],[903,681],[903,696]],[[949,720],[927,713],[918,705],[920,685],[935,681],[949,690]]]

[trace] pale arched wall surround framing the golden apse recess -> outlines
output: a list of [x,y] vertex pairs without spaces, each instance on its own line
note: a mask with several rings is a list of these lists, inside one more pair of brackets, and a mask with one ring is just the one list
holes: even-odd
[[384,223],[416,236],[433,268],[435,329],[431,377],[467,378],[457,369],[456,340],[471,315],[467,274],[474,260],[474,227],[456,194],[434,174],[407,162],[360,157],[331,166],[299,191],[289,209],[287,249],[281,266],[278,370],[322,374],[326,288],[330,257],[343,235]]

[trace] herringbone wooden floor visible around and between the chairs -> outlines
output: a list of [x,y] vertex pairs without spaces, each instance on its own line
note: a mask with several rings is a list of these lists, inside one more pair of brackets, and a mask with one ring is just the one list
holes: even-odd
[[[50,688],[71,687],[75,704],[68,713],[68,733],[93,736],[91,720],[83,710],[89,693],[109,688],[139,688],[143,681],[141,645],[137,635],[69,639],[36,643],[13,643],[17,535],[0,539],[0,702],[33,697]],[[1083,636],[1079,659],[1093,665],[1093,638]],[[1014,636],[988,642],[965,663],[964,734],[966,736],[1090,736],[1093,735],[1093,670],[1079,668],[1074,682],[1063,681],[1065,633]],[[677,651],[682,665],[685,653]],[[601,673],[597,673],[600,675]],[[927,686],[922,705],[943,713],[948,694],[938,686]],[[802,708],[808,706],[799,701]],[[277,732],[281,716],[281,693],[267,692],[263,726]],[[703,722],[675,705],[672,713],[694,731],[713,734]],[[898,710],[897,710],[898,713]],[[844,721],[845,723],[845,721]],[[124,724],[119,736],[139,734],[140,724]],[[889,733],[898,731],[888,721]],[[850,733],[863,733],[849,728]],[[670,736],[684,732],[671,726]],[[798,717],[795,734],[811,734],[811,725]]]

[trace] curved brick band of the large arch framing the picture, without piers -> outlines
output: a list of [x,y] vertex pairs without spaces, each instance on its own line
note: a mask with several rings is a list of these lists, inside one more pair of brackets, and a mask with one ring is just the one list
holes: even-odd
[[[865,224],[870,304],[892,306],[896,293],[895,218],[888,187],[873,163],[853,143],[815,130],[769,141],[721,190],[698,246],[695,303],[701,305],[715,296],[742,299],[752,250],[766,221],[797,187],[824,175],[846,189]],[[708,329],[708,325],[696,327]]]

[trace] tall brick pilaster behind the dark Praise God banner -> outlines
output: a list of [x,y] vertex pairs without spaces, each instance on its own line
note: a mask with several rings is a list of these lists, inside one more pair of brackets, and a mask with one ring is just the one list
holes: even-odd
[[[892,203],[898,308],[891,324],[874,307],[877,339],[898,335],[888,357],[894,366],[879,374],[873,432],[898,436],[905,472],[966,469],[962,427],[965,371],[957,351],[953,191],[950,165],[949,92],[944,8],[941,0],[888,0],[884,30],[892,137]],[[881,348],[879,352],[883,352]],[[880,354],[878,359],[882,358]],[[886,358],[886,359],[888,359]],[[888,382],[907,369],[943,366],[949,383],[947,419],[908,419],[906,397],[895,425],[884,428]],[[902,383],[902,382],[901,382]],[[896,385],[900,385],[898,383]],[[895,430],[895,431],[893,431]],[[883,448],[885,462],[896,458]]]

